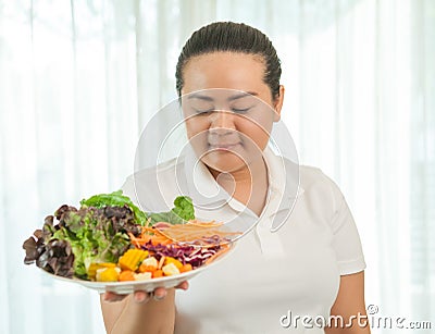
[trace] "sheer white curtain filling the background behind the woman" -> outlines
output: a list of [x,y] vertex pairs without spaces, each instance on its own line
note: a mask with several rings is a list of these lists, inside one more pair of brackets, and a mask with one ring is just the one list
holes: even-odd
[[435,327],[435,1],[0,0],[1,333],[103,333],[97,294],[25,267],[21,245],[119,188],[183,42],[216,20],[274,41],[300,161],[357,220],[366,304]]

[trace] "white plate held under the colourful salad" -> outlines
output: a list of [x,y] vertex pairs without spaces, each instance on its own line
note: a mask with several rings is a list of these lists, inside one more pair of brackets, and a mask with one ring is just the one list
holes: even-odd
[[48,274],[51,277],[54,277],[57,280],[61,280],[63,282],[78,283],[85,287],[95,289],[99,293],[112,292],[112,293],[116,293],[120,295],[128,295],[128,294],[134,293],[135,290],[152,292],[157,287],[170,288],[170,287],[177,286],[179,283],[190,280],[191,277],[196,276],[200,272],[212,267],[214,263],[224,259],[228,253],[231,253],[234,250],[234,248],[235,248],[235,246],[233,244],[233,246],[229,248],[229,250],[227,250],[225,253],[223,253],[222,256],[214,259],[214,261],[211,262],[210,264],[201,265],[197,269],[190,270],[185,273],[181,273],[178,275],[151,279],[151,280],[147,280],[147,281],[92,282],[92,281],[79,280],[76,277],[67,279],[67,277],[63,277],[63,276],[58,276],[58,275],[51,274],[45,270],[42,270],[42,272],[45,272],[46,274]]

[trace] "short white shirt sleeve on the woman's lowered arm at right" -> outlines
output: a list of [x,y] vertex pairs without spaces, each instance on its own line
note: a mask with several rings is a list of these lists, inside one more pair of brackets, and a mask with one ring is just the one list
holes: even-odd
[[352,274],[365,269],[361,239],[356,222],[338,187],[333,183],[335,210],[331,220],[333,248],[341,275]]

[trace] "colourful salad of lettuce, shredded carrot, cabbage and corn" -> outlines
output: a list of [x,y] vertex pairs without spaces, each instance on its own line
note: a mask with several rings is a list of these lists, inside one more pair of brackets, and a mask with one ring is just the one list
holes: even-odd
[[26,239],[25,264],[86,281],[145,281],[210,263],[229,249],[223,224],[195,220],[191,199],[144,212],[122,190],[61,206]]

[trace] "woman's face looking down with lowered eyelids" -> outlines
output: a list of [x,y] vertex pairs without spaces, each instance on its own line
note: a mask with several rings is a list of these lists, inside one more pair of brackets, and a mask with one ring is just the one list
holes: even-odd
[[184,67],[182,106],[190,144],[201,161],[234,173],[262,158],[284,89],[272,99],[258,55],[213,52]]

